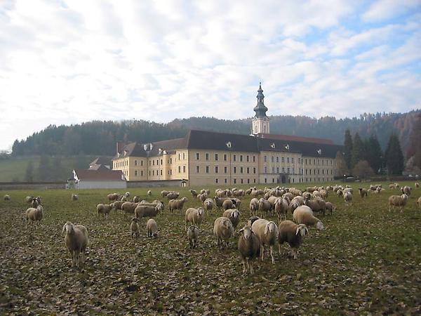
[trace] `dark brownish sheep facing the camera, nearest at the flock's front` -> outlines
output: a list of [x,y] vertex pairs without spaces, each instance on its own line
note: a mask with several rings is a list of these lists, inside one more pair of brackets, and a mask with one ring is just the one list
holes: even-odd
[[253,260],[260,257],[260,240],[249,226],[241,228],[240,234],[238,249],[243,261],[243,273],[250,268],[250,275],[253,275]]

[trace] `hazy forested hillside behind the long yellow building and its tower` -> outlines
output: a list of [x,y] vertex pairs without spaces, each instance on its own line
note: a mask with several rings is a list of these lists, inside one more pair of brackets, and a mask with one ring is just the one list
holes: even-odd
[[[406,152],[415,115],[420,112],[417,110],[403,114],[363,114],[351,119],[276,116],[270,117],[270,130],[274,134],[329,138],[336,144],[342,144],[345,130],[350,129],[353,135],[358,132],[362,138],[376,134],[383,149],[390,134],[397,133],[403,152]],[[26,140],[16,140],[13,144],[13,154],[22,156],[83,153],[112,156],[117,140],[147,143],[183,137],[189,129],[249,134],[250,126],[250,119],[226,120],[209,117],[175,119],[168,124],[149,121],[90,121],[72,126],[48,126]]]

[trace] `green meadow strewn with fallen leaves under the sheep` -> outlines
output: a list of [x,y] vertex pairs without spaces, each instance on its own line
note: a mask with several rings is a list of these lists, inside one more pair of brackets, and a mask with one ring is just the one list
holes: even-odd
[[[98,219],[96,204],[107,202],[107,193],[115,190],[80,190],[76,202],[70,200],[74,191],[69,190],[3,191],[0,314],[420,314],[421,211],[415,201],[421,189],[413,188],[403,213],[389,213],[387,198],[399,190],[383,183],[381,195],[361,199],[359,184],[352,186],[352,206],[330,192],[327,200],[337,209],[332,216],[316,214],[326,230],[309,228],[298,260],[288,244],[281,254],[276,246],[276,264],[267,251],[251,276],[243,274],[238,235],[229,249],[216,246],[213,221],[222,212],[206,214],[198,247],[192,250],[184,214],[168,213],[167,208],[155,218],[158,239],[147,238],[145,218],[135,241],[129,233],[131,217],[113,211],[109,220]],[[188,197],[184,210],[200,205],[187,188],[173,189]],[[213,197],[215,187],[210,189]],[[147,199],[162,199],[161,190],[153,188]],[[147,189],[129,191],[147,197]],[[6,193],[11,202],[3,200]],[[44,218],[37,228],[22,220],[27,195],[43,199]],[[250,197],[242,198],[239,228],[250,216],[249,202]],[[272,219],[277,223],[275,216]],[[62,233],[67,220],[85,225],[89,232],[83,271],[70,266]]]

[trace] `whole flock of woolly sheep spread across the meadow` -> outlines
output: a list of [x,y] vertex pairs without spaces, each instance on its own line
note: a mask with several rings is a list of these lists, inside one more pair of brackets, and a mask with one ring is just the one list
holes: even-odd
[[[415,183],[415,188],[419,184]],[[390,189],[401,190],[401,195],[392,195],[389,197],[389,211],[394,207],[399,207],[401,211],[408,202],[408,196],[412,192],[409,186],[399,187],[398,183],[389,185]],[[360,187],[358,189],[361,198],[368,197],[368,194],[381,194],[384,189],[382,185],[370,185],[368,189]],[[218,240],[220,249],[229,245],[229,240],[234,237],[236,228],[241,218],[241,197],[249,195],[251,197],[248,208],[250,218],[247,225],[238,231],[238,250],[243,262],[243,272],[250,270],[253,274],[253,260],[264,259],[265,246],[269,247],[269,254],[274,264],[274,246],[288,243],[293,249],[293,258],[298,258],[298,248],[302,244],[303,237],[309,234],[309,226],[314,226],[317,230],[323,230],[322,221],[314,216],[314,213],[325,215],[326,211],[332,215],[335,206],[326,202],[328,195],[338,195],[343,197],[345,206],[352,205],[354,190],[347,185],[328,185],[327,187],[307,187],[306,190],[298,190],[295,187],[275,187],[265,188],[263,190],[256,187],[250,187],[248,190],[217,189],[214,197],[210,197],[210,190],[203,189],[200,192],[189,190],[192,198],[198,199],[202,204],[199,208],[188,208],[185,215],[185,230],[187,241],[190,248],[196,248],[199,240],[200,227],[205,218],[206,212],[211,213],[216,210],[222,212],[222,216],[215,219],[213,224],[213,235]],[[148,196],[152,195],[149,190]],[[168,202],[168,211],[173,213],[179,211],[181,214],[187,197],[180,197],[179,192],[162,191],[161,197],[166,198]],[[77,201],[78,195],[72,195],[71,199]],[[138,196],[131,197],[130,192],[124,195],[112,193],[107,195],[109,204],[98,204],[96,211],[99,216],[107,218],[112,210],[120,210],[125,217],[131,216],[129,230],[133,239],[140,236],[140,221],[142,218],[147,220],[146,228],[148,237],[158,237],[158,225],[154,217],[165,210],[164,202],[154,200],[147,202]],[[4,196],[5,201],[11,201],[9,195]],[[41,197],[26,197],[25,202],[29,207],[25,212],[27,223],[34,222],[36,225],[43,218],[44,208],[41,203]],[[421,210],[421,197],[417,199],[418,208]],[[293,220],[287,220],[287,214],[292,213]],[[273,220],[268,220],[269,216],[277,216],[278,225]],[[72,257],[72,267],[83,268],[84,255],[88,245],[88,230],[83,225],[74,225],[67,222],[63,226],[62,232],[65,233],[65,245]]]

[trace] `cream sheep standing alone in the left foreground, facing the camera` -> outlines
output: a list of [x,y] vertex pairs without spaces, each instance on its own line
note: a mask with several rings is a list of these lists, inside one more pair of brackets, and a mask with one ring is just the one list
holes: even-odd
[[63,226],[62,232],[66,232],[65,244],[70,256],[72,256],[72,268],[75,265],[77,268],[81,268],[85,263],[85,250],[86,246],[88,246],[88,230],[83,225],[74,225],[67,222]]

